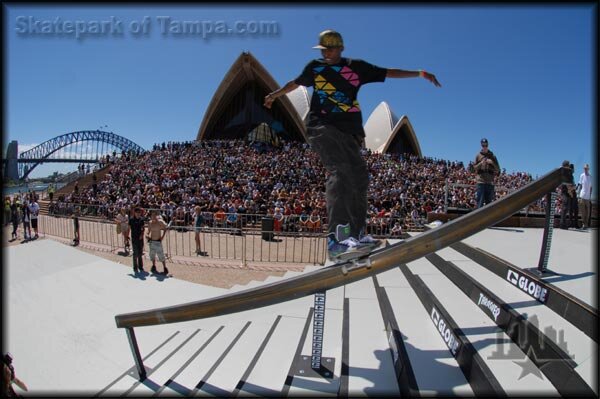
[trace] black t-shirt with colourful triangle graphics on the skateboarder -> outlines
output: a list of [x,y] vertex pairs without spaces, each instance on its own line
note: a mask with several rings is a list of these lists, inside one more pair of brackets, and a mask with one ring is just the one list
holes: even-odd
[[341,58],[333,65],[323,59],[309,62],[294,80],[314,88],[307,126],[331,123],[345,133],[364,137],[358,90],[364,84],[385,81],[386,73],[386,68],[363,60]]

